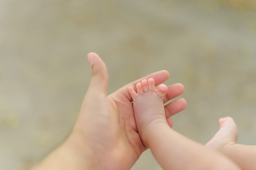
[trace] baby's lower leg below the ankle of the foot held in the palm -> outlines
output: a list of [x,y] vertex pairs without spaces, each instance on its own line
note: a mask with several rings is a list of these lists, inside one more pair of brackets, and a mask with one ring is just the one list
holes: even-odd
[[239,170],[226,157],[182,136],[166,124],[152,127],[145,140],[165,170]]

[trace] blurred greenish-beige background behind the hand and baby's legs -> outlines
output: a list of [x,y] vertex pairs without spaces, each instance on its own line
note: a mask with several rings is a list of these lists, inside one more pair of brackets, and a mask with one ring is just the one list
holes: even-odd
[[[255,0],[0,0],[0,165],[26,170],[72,129],[91,76],[106,62],[109,94],[166,69],[186,110],[173,128],[202,144],[232,116],[256,145]],[[161,170],[150,150],[132,170]]]

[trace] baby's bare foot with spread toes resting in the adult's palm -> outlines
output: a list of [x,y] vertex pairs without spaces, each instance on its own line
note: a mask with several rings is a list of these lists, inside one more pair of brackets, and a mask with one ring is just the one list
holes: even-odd
[[[141,81],[136,85],[137,93],[133,87],[128,91],[132,97],[133,110],[137,129],[141,137],[156,123],[166,123],[163,99],[168,87],[161,84],[155,89],[153,78]],[[143,137],[142,137],[143,138]]]

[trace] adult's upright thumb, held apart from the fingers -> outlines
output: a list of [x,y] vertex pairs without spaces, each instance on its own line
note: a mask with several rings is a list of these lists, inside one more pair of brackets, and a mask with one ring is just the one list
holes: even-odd
[[90,90],[95,89],[98,92],[107,94],[108,91],[108,69],[106,64],[96,53],[89,53],[88,60],[92,66],[92,78],[89,84]]

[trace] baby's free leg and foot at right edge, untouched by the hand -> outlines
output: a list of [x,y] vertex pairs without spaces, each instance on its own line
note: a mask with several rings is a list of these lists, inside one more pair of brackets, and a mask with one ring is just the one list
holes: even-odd
[[243,170],[256,169],[256,146],[236,144],[238,129],[231,117],[219,119],[220,130],[206,144],[229,157]]

